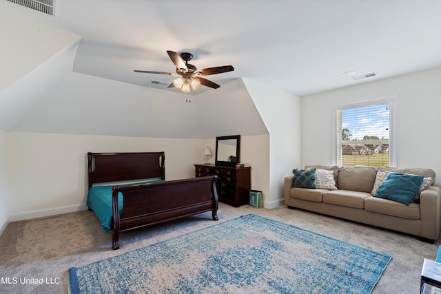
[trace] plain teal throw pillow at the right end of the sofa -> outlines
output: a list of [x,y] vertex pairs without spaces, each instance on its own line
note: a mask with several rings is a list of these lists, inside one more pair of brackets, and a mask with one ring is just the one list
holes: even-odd
[[373,197],[398,201],[409,205],[420,190],[423,176],[389,173]]

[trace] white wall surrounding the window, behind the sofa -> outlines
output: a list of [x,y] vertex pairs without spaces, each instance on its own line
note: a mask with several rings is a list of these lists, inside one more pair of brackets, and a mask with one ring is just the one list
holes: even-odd
[[302,98],[302,165],[331,165],[334,106],[396,96],[398,167],[433,169],[441,183],[441,67]]

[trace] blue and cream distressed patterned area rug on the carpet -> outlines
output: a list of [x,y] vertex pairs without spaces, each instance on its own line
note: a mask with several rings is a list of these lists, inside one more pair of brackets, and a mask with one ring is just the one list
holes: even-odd
[[371,293],[390,255],[249,214],[68,271],[70,293]]

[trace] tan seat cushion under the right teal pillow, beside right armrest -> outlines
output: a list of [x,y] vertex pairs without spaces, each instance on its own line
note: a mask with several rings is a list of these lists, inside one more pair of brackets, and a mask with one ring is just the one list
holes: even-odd
[[412,220],[420,219],[420,204],[417,203],[411,203],[407,206],[397,201],[372,196],[366,198],[365,210]]

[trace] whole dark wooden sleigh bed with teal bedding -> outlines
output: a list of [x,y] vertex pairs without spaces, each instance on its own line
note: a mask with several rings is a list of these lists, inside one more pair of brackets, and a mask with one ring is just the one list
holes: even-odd
[[165,181],[164,152],[88,153],[88,200],[104,231],[119,233],[212,211],[216,176]]

